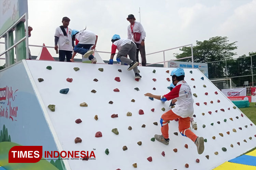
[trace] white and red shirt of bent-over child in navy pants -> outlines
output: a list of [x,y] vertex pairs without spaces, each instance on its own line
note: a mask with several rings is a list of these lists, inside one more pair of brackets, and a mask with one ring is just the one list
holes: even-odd
[[92,31],[83,30],[75,35],[75,45],[79,44],[95,44],[96,35]]

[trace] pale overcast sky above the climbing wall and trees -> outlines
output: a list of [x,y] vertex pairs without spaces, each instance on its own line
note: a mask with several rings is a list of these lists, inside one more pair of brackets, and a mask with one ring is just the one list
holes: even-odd
[[[96,49],[111,51],[113,34],[127,38],[128,14],[140,21],[139,7],[146,53],[195,45],[196,40],[214,36],[238,41],[237,56],[256,51],[256,1],[252,0],[28,0],[28,22],[33,28],[29,44],[54,46],[55,29],[67,16],[71,19],[69,28],[87,27],[99,36]],[[40,48],[30,50],[38,55]],[[49,51],[58,56],[54,50]],[[167,52],[167,59],[173,59],[175,52]],[[103,60],[110,58],[109,54],[100,55]],[[147,56],[147,63],[162,60],[162,53]]]

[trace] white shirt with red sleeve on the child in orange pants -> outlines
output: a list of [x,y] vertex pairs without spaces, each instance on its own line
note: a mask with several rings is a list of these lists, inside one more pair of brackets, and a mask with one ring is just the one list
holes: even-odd
[[173,113],[186,118],[192,117],[194,113],[193,98],[189,85],[185,80],[179,81],[168,94],[164,95],[167,100],[177,99],[176,105],[172,108]]

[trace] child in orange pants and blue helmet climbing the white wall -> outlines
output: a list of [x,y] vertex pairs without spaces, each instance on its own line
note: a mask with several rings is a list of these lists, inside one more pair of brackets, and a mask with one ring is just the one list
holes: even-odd
[[168,121],[179,119],[179,131],[182,136],[190,138],[197,146],[198,154],[202,154],[204,151],[204,139],[203,137],[196,136],[190,129],[190,118],[194,113],[193,98],[189,85],[184,80],[185,72],[182,68],[176,68],[171,72],[172,82],[175,85],[168,94],[163,96],[152,95],[146,93],[145,96],[153,97],[161,101],[172,100],[176,104],[174,108],[164,113],[161,116],[161,132],[162,135],[155,135],[155,139],[162,142],[165,145],[169,144],[169,126]]

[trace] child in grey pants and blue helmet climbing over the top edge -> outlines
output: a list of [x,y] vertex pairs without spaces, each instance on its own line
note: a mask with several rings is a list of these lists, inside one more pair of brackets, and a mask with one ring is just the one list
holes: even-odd
[[[115,34],[112,39],[112,48],[111,48],[111,56],[109,60],[109,64],[113,64],[113,58],[116,53],[116,49],[118,50],[116,61],[124,62],[129,65],[128,71],[132,70],[135,73],[135,78],[140,79],[141,75],[139,74],[137,65],[139,64],[136,62],[136,45],[130,39],[121,39],[119,35]],[[129,58],[125,57],[129,55]]]

